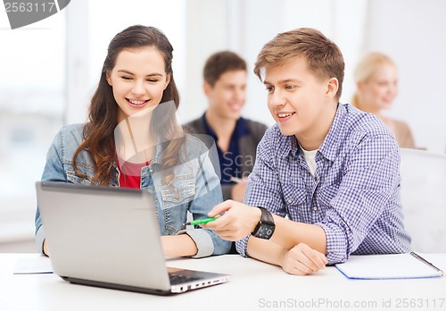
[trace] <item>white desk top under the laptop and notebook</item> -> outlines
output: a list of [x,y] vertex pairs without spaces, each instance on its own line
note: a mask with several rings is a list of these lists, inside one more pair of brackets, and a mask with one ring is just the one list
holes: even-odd
[[[160,297],[73,285],[52,273],[12,274],[18,259],[36,256],[0,254],[0,310],[446,310],[446,276],[348,280],[335,267],[293,276],[277,266],[227,255],[169,260],[171,266],[229,273],[232,278],[211,288]],[[446,270],[446,254],[425,258]]]

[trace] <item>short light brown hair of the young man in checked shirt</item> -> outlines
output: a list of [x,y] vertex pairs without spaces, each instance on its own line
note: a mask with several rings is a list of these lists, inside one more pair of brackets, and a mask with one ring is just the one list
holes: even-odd
[[338,80],[336,98],[339,100],[343,93],[343,54],[335,42],[317,29],[300,28],[279,33],[260,50],[254,73],[262,80],[265,69],[281,66],[298,57],[307,60],[309,70],[319,79]]

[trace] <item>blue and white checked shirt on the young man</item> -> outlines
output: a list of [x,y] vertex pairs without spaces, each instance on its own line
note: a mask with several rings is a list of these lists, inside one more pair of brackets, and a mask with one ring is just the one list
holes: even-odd
[[[270,128],[258,146],[244,203],[322,227],[328,264],[343,262],[350,254],[409,251],[399,147],[383,122],[339,104],[315,160],[313,176],[297,139],[284,136],[277,125]],[[236,242],[242,256],[248,256],[248,239]]]

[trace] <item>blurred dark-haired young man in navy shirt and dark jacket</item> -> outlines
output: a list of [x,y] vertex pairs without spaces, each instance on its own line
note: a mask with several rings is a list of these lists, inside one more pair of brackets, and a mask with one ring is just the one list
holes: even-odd
[[211,55],[203,69],[208,109],[186,124],[195,134],[211,136],[217,145],[223,199],[242,202],[256,148],[267,126],[243,118],[246,100],[246,62],[230,51]]

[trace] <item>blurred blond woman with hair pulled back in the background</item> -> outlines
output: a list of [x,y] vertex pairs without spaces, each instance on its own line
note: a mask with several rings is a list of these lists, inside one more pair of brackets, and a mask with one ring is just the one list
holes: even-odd
[[369,53],[357,64],[354,79],[357,89],[351,104],[376,114],[392,130],[400,147],[415,147],[408,124],[383,114],[398,94],[398,70],[392,59],[381,53]]

